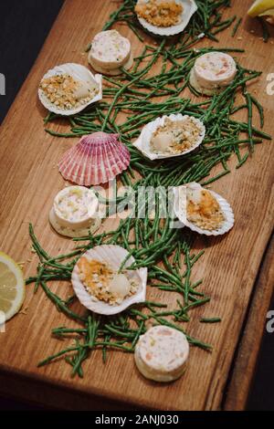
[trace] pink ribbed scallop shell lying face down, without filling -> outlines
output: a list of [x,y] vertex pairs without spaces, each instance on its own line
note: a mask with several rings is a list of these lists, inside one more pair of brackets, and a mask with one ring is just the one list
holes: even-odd
[[64,153],[58,163],[59,172],[69,182],[90,186],[107,183],[130,164],[128,148],[118,134],[94,132]]

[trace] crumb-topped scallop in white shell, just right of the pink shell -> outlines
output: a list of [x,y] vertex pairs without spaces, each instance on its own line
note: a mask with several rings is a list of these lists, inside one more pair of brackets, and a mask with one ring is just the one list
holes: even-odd
[[146,124],[133,145],[153,161],[192,152],[204,137],[205,125],[201,120],[178,113],[164,115]]

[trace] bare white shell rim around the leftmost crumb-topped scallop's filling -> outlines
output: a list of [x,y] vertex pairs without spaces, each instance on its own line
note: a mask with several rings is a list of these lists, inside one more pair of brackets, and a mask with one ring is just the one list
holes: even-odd
[[47,99],[47,96],[44,94],[43,90],[39,88],[38,97],[47,110],[53,111],[54,113],[63,116],[75,115],[76,113],[79,113],[79,111],[86,109],[86,107],[90,106],[90,104],[102,99],[102,76],[99,74],[92,75],[89,68],[81,66],[80,64],[67,63],[57,66],[55,68],[51,68],[47,71],[46,75],[42,78],[42,80],[44,78],[51,78],[53,76],[62,75],[65,73],[77,80],[88,82],[91,87],[98,87],[99,93],[93,99],[90,99],[90,101],[78,106],[77,108],[63,110],[59,109],[55,104],[51,103],[49,99]]

